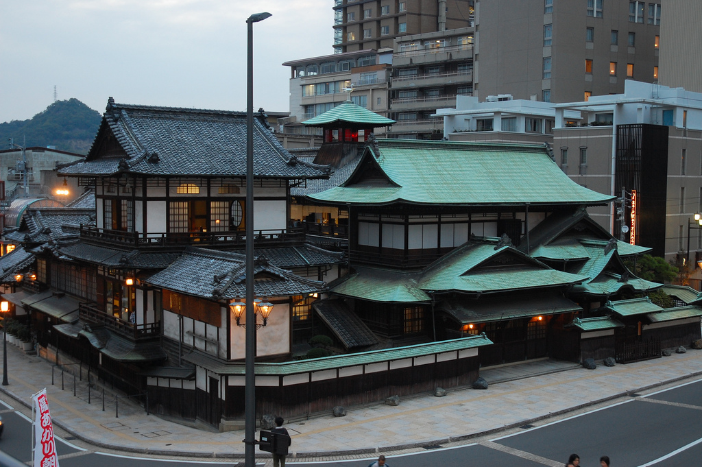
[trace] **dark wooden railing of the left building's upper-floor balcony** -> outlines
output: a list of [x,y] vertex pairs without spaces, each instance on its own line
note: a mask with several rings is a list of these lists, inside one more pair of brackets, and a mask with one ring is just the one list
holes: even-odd
[[[291,242],[300,242],[305,238],[302,228],[282,230],[254,230],[257,244],[279,246]],[[230,232],[121,232],[119,230],[100,229],[81,225],[81,238],[94,242],[133,246],[187,246],[190,244],[208,244],[218,246],[244,246],[244,231]]]

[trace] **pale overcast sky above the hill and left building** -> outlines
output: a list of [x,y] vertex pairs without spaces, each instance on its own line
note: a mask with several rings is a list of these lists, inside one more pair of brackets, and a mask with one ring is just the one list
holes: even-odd
[[58,99],[246,110],[246,18],[254,110],[289,110],[287,60],[333,53],[333,0],[1,0],[0,122]]

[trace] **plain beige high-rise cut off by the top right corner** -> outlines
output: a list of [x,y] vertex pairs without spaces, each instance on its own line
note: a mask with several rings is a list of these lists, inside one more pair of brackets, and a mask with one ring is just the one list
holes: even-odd
[[664,86],[702,93],[702,1],[665,0],[661,18],[661,78]]

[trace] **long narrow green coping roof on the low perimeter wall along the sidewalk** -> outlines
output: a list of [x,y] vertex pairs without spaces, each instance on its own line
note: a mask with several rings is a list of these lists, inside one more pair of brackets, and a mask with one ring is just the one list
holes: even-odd
[[[403,358],[422,357],[436,353],[454,352],[468,348],[489,346],[493,343],[484,335],[468,336],[451,339],[450,341],[430,342],[414,346],[388,348],[383,350],[370,350],[369,352],[350,353],[346,355],[333,355],[332,357],[312,358],[284,363],[259,363],[256,362],[256,376],[286,376],[300,374],[307,371],[322,371],[332,368],[355,367],[362,364],[389,362]],[[217,374],[245,374],[243,363],[225,362],[216,357],[195,351],[184,355],[187,362],[197,364],[199,367],[214,371]]]

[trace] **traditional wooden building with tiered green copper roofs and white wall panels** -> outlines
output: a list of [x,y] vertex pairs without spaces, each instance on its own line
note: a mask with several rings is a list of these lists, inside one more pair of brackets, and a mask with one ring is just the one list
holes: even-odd
[[347,180],[308,199],[349,212],[338,307],[393,341],[484,333],[482,364],[576,360],[566,326],[592,302],[661,287],[621,262],[647,249],[587,216],[611,197],[569,180],[548,147],[371,141]]

